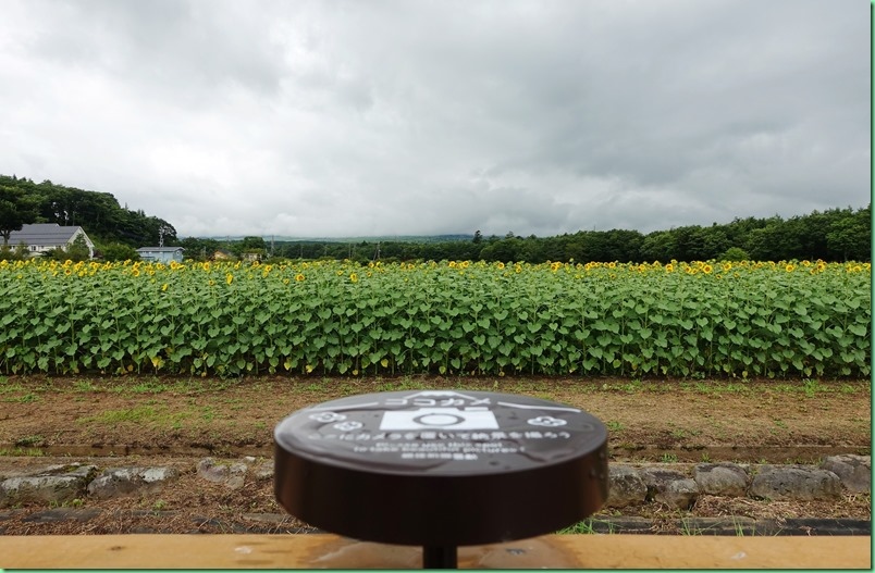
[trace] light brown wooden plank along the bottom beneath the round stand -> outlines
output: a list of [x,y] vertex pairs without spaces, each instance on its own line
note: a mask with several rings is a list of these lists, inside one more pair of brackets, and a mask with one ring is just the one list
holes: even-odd
[[[418,569],[416,547],[335,535],[0,536],[3,569]],[[459,548],[460,569],[866,569],[871,537],[546,535]]]

